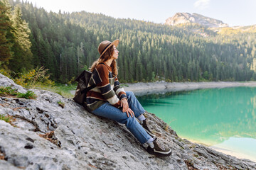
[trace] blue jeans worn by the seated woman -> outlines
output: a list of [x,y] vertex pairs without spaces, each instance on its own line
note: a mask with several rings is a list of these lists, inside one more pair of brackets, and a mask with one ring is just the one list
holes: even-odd
[[128,98],[129,108],[134,111],[135,118],[131,115],[127,117],[127,113],[122,112],[120,108],[116,108],[108,102],[104,103],[99,108],[96,108],[95,111],[92,111],[92,113],[94,113],[95,115],[100,115],[104,118],[115,120],[118,123],[125,124],[127,129],[132,132],[134,137],[136,137],[137,140],[139,140],[139,142],[143,145],[151,138],[151,136],[149,136],[144,128],[142,128],[142,125],[139,124],[136,118],[138,118],[139,115],[142,115],[142,113],[145,113],[145,110],[139,103],[137,98],[134,96],[134,93],[132,91],[126,91],[126,94]]

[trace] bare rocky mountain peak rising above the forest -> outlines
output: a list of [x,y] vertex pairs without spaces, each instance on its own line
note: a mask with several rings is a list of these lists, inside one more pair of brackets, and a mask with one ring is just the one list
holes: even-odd
[[206,27],[228,27],[223,21],[202,16],[198,13],[176,13],[174,16],[166,19],[166,25],[176,26],[182,23],[198,23]]

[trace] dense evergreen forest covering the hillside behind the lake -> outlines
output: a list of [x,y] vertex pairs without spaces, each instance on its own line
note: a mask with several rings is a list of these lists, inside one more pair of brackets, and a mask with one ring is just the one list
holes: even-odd
[[219,34],[196,24],[165,26],[0,2],[0,63],[14,72],[44,66],[65,83],[97,60],[102,40],[119,39],[121,82],[256,80],[255,31]]

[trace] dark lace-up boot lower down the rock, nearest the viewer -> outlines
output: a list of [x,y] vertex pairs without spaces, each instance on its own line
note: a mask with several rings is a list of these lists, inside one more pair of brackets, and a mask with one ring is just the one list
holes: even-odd
[[168,147],[164,147],[163,144],[159,143],[157,139],[153,141],[153,146],[149,144],[146,151],[149,152],[149,154],[154,154],[158,157],[169,157],[171,155],[171,149]]

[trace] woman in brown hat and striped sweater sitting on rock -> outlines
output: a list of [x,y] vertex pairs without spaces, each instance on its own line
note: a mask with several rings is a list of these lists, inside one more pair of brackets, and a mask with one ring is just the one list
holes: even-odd
[[119,40],[105,40],[98,47],[100,58],[90,68],[92,77],[88,84],[88,87],[96,87],[87,92],[87,108],[95,115],[125,124],[150,154],[167,157],[171,155],[171,149],[159,145],[146,123],[142,105],[131,91],[125,92],[119,86],[116,62],[118,43]]

